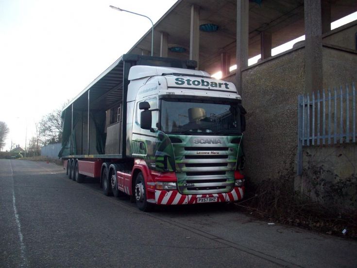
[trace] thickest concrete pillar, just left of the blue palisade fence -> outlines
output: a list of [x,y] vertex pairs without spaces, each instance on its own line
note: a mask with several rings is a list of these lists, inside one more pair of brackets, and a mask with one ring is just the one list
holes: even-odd
[[323,87],[323,45],[321,0],[304,0],[305,93]]

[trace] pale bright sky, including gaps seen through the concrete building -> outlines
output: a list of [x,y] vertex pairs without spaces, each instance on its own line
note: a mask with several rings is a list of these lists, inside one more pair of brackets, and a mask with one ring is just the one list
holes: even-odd
[[[0,121],[10,128],[3,150],[11,143],[24,148],[35,122],[75,97],[151,29],[147,18],[109,5],[155,23],[175,2],[0,0]],[[357,12],[351,16],[332,28],[357,19]]]

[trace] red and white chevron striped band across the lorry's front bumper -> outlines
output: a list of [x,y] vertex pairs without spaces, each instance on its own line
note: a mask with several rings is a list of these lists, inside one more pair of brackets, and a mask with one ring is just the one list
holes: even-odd
[[233,202],[243,198],[244,187],[235,187],[232,192],[208,195],[181,195],[177,190],[155,190],[157,205],[185,205],[196,204],[200,197],[218,197],[217,202]]

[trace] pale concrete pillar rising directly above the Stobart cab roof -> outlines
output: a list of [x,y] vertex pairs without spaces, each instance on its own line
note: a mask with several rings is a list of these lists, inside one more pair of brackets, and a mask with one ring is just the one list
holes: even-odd
[[200,56],[200,7],[197,5],[191,6],[191,27],[189,38],[189,59],[197,61],[197,69],[199,69]]

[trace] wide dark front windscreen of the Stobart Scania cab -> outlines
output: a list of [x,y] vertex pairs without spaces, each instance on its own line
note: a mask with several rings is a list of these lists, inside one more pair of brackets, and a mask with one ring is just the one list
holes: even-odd
[[190,135],[240,135],[238,103],[161,100],[161,129]]

